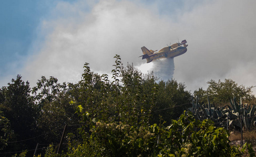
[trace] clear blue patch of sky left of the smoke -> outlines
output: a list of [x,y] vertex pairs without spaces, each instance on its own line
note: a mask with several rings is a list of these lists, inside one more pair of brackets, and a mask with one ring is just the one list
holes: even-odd
[[40,20],[49,12],[49,1],[1,1],[0,2],[0,77],[17,73],[23,66]]

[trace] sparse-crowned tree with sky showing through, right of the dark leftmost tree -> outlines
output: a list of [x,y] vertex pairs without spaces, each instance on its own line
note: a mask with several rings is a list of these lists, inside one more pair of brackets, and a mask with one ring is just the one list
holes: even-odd
[[[42,142],[59,142],[65,125],[79,124],[75,114],[75,97],[78,86],[58,83],[57,78],[42,76],[33,87],[35,102],[38,106],[37,127],[45,133]],[[73,95],[74,94],[74,95]],[[56,138],[57,137],[57,138]]]

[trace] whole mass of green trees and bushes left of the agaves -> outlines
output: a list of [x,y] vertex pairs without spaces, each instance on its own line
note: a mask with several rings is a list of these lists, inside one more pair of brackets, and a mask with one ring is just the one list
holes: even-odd
[[[85,63],[82,78],[75,84],[42,76],[30,88],[21,78],[17,75],[0,89],[0,155],[27,150],[20,155],[32,156],[37,143],[36,154],[46,156],[242,153],[229,145],[225,129],[184,112],[193,104],[185,84],[158,81],[152,73],[142,75],[132,64],[122,66],[119,55],[111,77],[92,72]],[[250,91],[246,94],[251,96]],[[65,125],[65,144],[57,154]]]

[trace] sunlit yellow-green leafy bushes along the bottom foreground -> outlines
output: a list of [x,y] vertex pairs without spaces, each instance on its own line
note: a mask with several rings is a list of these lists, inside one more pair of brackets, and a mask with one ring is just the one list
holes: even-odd
[[[168,127],[129,126],[122,122],[91,121],[90,133],[80,144],[69,143],[63,156],[234,156],[228,131],[214,127],[211,120],[181,115]],[[250,149],[251,150],[251,149]]]

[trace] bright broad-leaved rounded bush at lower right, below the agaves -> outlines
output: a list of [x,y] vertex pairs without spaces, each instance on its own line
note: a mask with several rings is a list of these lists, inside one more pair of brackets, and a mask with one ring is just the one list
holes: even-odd
[[214,127],[211,120],[199,121],[190,113],[173,120],[168,130],[162,156],[227,156],[238,153],[233,152],[229,145],[227,130]]

